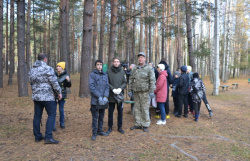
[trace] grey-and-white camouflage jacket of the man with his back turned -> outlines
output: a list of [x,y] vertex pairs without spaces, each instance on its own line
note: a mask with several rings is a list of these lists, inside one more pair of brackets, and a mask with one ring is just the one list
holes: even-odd
[[32,100],[55,101],[55,94],[62,93],[54,69],[45,62],[37,60],[29,72]]

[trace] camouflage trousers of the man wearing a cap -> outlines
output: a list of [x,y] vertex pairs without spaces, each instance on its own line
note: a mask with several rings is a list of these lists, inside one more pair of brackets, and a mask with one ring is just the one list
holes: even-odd
[[149,127],[149,106],[150,98],[148,92],[134,93],[134,117],[135,126]]

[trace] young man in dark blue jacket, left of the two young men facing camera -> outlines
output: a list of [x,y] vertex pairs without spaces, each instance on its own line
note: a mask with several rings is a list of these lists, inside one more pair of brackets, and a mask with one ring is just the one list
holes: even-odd
[[[108,75],[102,70],[103,62],[95,61],[95,69],[89,75],[89,89],[91,93],[92,137],[95,141],[97,135],[108,136],[102,129],[105,109],[99,106],[108,104],[109,81]],[[98,106],[98,107],[97,107]],[[97,125],[98,124],[98,125]]]

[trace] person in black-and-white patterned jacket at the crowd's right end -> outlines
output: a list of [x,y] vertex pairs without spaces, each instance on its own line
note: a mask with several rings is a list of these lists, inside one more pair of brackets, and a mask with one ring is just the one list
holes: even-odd
[[192,96],[193,107],[195,110],[195,121],[198,121],[200,115],[201,100],[203,99],[203,93],[205,93],[205,85],[199,78],[198,73],[193,74],[193,79],[190,82],[190,94]]

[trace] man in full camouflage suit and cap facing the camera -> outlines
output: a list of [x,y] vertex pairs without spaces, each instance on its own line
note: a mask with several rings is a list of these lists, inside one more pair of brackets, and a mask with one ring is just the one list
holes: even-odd
[[129,78],[129,93],[132,97],[134,92],[134,116],[135,125],[131,130],[143,128],[144,132],[148,132],[150,125],[149,105],[150,98],[154,98],[155,90],[155,74],[150,65],[145,64],[145,54],[138,54],[139,65],[133,68]]

